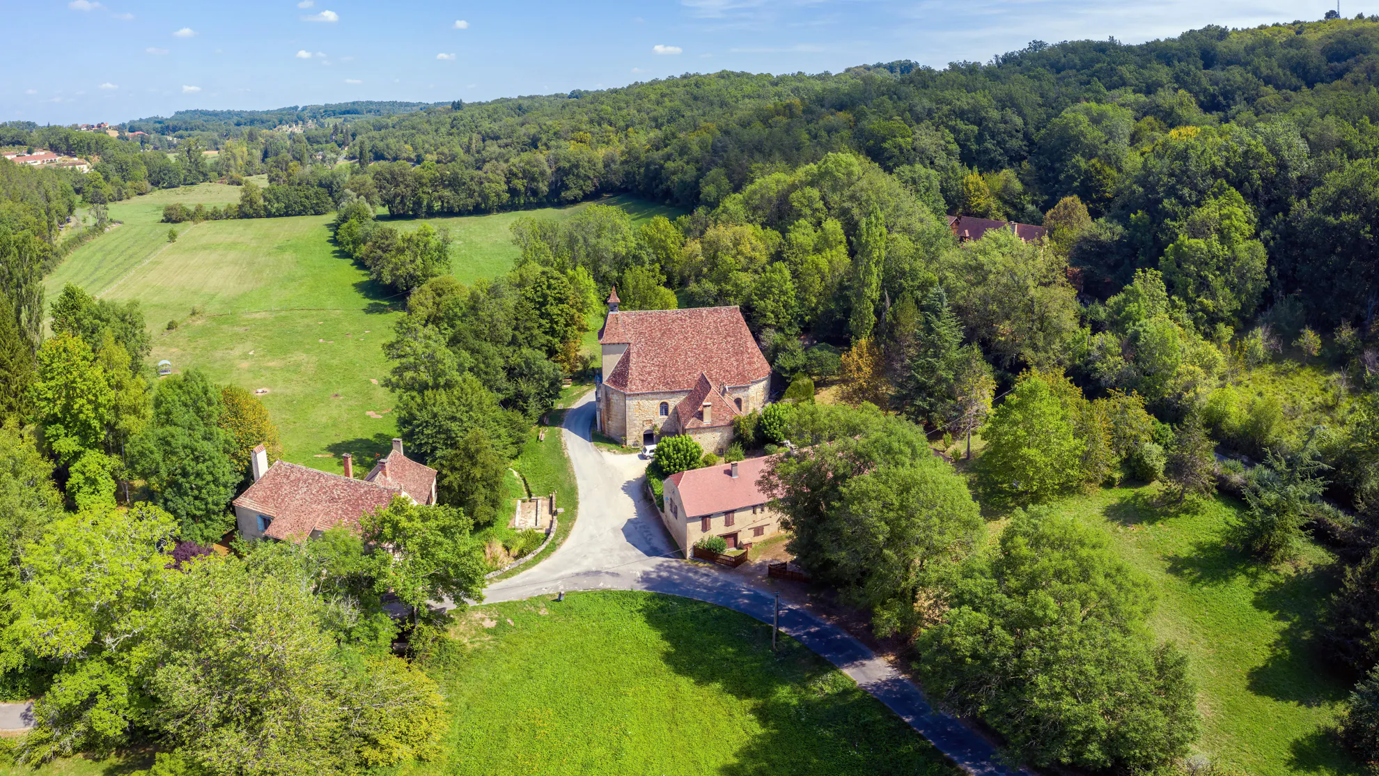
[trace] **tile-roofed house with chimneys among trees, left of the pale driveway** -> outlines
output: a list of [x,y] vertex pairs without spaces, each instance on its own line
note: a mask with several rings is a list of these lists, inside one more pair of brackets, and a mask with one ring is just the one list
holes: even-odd
[[345,474],[274,460],[263,445],[251,458],[254,484],[234,499],[234,521],[245,539],[302,542],[338,525],[357,529],[360,518],[386,507],[393,496],[436,503],[436,470],[403,455],[403,440],[363,480],[345,453]]

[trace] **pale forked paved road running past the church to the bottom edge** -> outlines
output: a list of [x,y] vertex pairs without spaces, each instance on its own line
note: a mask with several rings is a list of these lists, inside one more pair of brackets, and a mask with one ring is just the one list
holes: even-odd
[[[640,485],[645,462],[589,441],[593,394],[565,413],[565,448],[579,485],[579,518],[545,561],[488,587],[485,601],[517,601],[575,590],[647,590],[707,601],[771,622],[774,597],[741,575],[678,560]],[[998,765],[980,736],[935,711],[913,682],[860,641],[801,606],[783,606],[781,629],[876,696],[968,773],[1025,773]]]

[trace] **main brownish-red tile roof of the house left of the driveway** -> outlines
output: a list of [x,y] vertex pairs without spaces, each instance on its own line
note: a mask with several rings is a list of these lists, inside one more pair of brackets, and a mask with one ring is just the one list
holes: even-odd
[[397,488],[276,460],[234,506],[272,517],[265,536],[302,540],[312,531],[359,525],[364,513],[387,506],[397,493]]

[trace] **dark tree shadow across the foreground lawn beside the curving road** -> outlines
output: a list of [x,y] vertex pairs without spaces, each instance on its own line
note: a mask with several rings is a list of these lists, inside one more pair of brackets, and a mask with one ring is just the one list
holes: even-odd
[[701,601],[648,595],[641,615],[670,645],[666,666],[750,708],[760,732],[732,742],[723,776],[956,773],[905,721],[789,637]]

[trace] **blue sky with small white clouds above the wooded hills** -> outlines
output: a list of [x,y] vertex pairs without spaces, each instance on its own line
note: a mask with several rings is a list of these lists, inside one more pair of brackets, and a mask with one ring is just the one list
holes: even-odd
[[[1379,7],[1379,0],[1367,0]],[[1321,18],[1325,0],[240,0],[0,3],[0,120],[192,108],[483,101],[687,72],[987,61],[1030,40],[1127,43]],[[1343,3],[1342,12],[1373,12]]]

